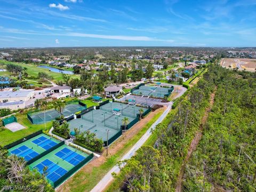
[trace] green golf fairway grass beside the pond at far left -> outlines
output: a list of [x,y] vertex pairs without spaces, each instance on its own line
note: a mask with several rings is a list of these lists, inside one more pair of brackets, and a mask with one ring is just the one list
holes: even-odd
[[[34,65],[34,64],[10,62],[10,61],[4,61],[4,60],[0,61],[1,68],[3,68],[3,67],[5,68],[6,64],[14,64],[14,65],[18,65],[21,67],[26,67],[28,69],[27,73],[29,74],[29,76],[37,77],[39,72],[45,72],[48,75],[53,77],[53,79],[54,79],[53,81],[59,81],[62,79],[62,75],[60,73],[54,73],[52,71],[49,71],[48,69],[39,68],[39,67],[37,67],[37,65]],[[8,71],[0,71],[0,76],[11,76],[11,75],[12,74]],[[70,77],[71,78],[79,78],[80,75],[70,75]],[[38,79],[33,79],[33,80],[38,81]]]

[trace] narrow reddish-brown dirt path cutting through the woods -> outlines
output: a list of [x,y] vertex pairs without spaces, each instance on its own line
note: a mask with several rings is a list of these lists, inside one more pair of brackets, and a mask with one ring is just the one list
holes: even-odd
[[183,164],[181,166],[179,177],[178,177],[178,180],[177,180],[177,183],[176,183],[176,189],[175,189],[176,192],[181,192],[182,191],[182,179],[183,179],[184,170],[185,170],[186,164],[188,163],[188,160],[189,160],[190,156],[196,150],[196,147],[197,147],[199,141],[202,138],[203,128],[205,126],[208,115],[209,115],[209,113],[212,109],[213,103],[214,103],[215,91],[216,91],[216,87],[215,87],[213,93],[211,94],[210,106],[207,107],[207,109],[205,110],[204,116],[203,116],[203,118],[201,120],[201,124],[199,126],[199,130],[196,132],[196,135],[195,135],[194,139],[191,141],[189,149],[188,149],[188,154],[185,158],[185,161],[183,162]]

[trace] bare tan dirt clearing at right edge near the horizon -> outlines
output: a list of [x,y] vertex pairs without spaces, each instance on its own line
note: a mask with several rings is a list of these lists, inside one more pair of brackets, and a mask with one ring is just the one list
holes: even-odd
[[220,65],[226,68],[238,68],[238,70],[255,71],[256,59],[231,59],[224,58],[220,61]]

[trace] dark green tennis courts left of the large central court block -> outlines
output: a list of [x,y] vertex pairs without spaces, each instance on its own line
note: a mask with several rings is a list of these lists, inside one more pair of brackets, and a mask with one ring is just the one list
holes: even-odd
[[[61,115],[68,117],[70,115],[75,114],[77,111],[81,111],[84,109],[86,109],[84,106],[81,106],[78,104],[66,105]],[[50,122],[59,116],[60,114],[58,111],[56,111],[55,109],[51,109],[51,110],[46,110],[45,114],[44,114],[44,111],[39,111],[38,113],[34,113],[34,114],[28,114],[28,119],[33,124],[43,124],[44,119],[45,119],[45,122]]]

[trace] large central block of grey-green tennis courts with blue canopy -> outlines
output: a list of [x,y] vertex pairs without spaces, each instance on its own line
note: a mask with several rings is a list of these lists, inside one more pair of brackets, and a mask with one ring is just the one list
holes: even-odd
[[[131,106],[124,103],[109,102],[100,107],[100,109],[91,110],[89,113],[82,115],[82,118],[69,121],[70,131],[75,128],[79,132],[90,131],[95,133],[97,138],[107,141],[121,130],[122,120],[127,117],[129,123],[132,122],[139,114],[141,107]],[[146,111],[145,108],[142,108]]]

